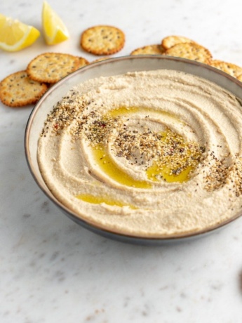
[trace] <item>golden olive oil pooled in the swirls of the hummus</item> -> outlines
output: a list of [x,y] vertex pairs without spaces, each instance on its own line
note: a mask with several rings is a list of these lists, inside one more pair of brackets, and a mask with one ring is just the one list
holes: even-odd
[[[106,148],[107,143],[105,142],[109,129],[112,129],[120,117],[128,116],[129,114],[139,111],[149,113],[150,109],[120,107],[108,112],[107,115],[102,116],[100,119],[96,119],[93,121],[93,124],[90,124],[87,138],[90,140],[90,150],[93,154],[95,164],[100,167],[106,176],[109,176],[109,178],[114,180],[116,183],[127,187],[150,189],[153,187],[152,183],[161,181],[168,183],[183,183],[189,180],[191,173],[199,165],[205,148],[200,147],[198,143],[193,141],[186,142],[182,136],[171,131],[170,128],[167,128],[162,132],[147,132],[147,134],[149,134],[149,136],[147,136],[147,147],[150,145],[150,136],[152,136],[152,140],[156,141],[155,145],[157,152],[152,155],[152,159],[149,160],[149,163],[147,163],[145,168],[147,180],[137,180],[133,178],[133,176],[130,176],[128,173],[120,169],[119,166],[117,166],[109,157]],[[163,112],[160,113],[162,114]],[[167,112],[164,113],[167,114]],[[92,136],[92,131],[95,131],[95,137]],[[140,136],[141,140],[145,142],[146,133],[137,132],[136,136]],[[119,141],[124,140],[124,143],[127,143],[129,140],[128,132],[123,133],[123,138],[122,134],[118,138]],[[132,140],[131,137],[130,140]],[[143,141],[142,147],[145,147]],[[117,143],[117,146],[122,147],[120,142]],[[150,150],[153,150],[152,146],[150,147]],[[122,154],[121,150],[119,150],[117,156],[128,159],[127,150],[126,154]],[[120,207],[125,206],[125,204],[122,204],[121,202],[102,196],[94,197],[93,195],[78,195],[77,198],[92,204],[105,203]]]

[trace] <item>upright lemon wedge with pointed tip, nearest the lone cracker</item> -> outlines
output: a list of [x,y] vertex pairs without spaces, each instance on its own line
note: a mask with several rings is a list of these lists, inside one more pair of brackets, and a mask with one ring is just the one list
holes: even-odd
[[43,36],[48,45],[55,45],[69,38],[67,27],[46,1],[43,1],[42,26]]

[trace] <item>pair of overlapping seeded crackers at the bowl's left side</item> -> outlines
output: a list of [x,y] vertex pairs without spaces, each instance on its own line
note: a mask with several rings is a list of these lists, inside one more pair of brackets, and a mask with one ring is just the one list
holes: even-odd
[[51,84],[88,64],[85,58],[62,53],[43,53],[0,83],[0,100],[9,107],[36,103]]

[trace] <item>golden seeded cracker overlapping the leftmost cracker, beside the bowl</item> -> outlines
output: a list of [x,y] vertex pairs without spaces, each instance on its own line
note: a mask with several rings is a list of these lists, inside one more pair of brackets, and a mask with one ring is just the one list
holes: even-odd
[[27,65],[30,79],[39,82],[56,83],[79,68],[79,58],[62,53],[42,53]]

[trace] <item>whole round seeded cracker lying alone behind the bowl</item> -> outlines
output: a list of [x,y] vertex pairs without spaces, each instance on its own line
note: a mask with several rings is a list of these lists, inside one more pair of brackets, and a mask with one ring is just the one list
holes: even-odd
[[81,47],[94,55],[112,55],[121,51],[125,43],[125,35],[121,29],[98,25],[90,27],[81,34]]

